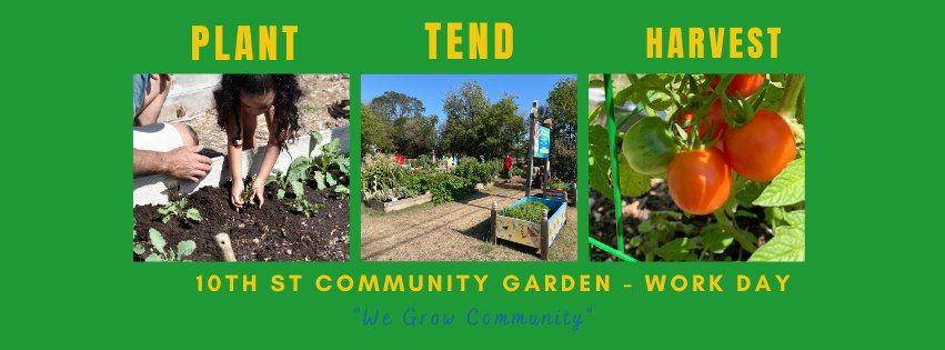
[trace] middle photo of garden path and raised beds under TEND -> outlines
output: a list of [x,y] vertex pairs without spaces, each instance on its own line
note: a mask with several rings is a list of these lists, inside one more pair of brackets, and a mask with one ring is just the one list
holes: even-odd
[[361,100],[361,259],[576,260],[575,76],[362,76]]

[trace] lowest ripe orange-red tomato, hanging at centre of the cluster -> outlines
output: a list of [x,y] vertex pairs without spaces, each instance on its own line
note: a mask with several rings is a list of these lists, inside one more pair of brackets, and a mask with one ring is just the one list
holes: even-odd
[[716,148],[682,151],[666,172],[670,197],[680,209],[707,214],[725,203],[732,190],[732,171]]

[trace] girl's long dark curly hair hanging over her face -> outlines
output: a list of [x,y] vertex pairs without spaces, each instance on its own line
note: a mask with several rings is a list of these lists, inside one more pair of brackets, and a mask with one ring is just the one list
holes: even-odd
[[295,104],[302,97],[302,89],[299,88],[295,74],[223,74],[220,88],[213,91],[213,100],[217,103],[217,124],[223,131],[227,131],[227,121],[230,119],[239,126],[237,113],[240,107],[240,92],[260,96],[269,91],[275,92],[273,101],[275,128],[272,129],[277,132],[279,146],[285,148],[285,142],[294,138],[300,129],[299,107]]

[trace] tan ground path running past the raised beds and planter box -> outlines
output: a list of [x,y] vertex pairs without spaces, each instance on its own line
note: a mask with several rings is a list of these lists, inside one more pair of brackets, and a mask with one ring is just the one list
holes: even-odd
[[[523,191],[487,188],[460,202],[424,204],[383,214],[361,209],[361,259],[373,261],[535,261],[533,248],[486,242],[492,202],[504,208]],[[549,252],[549,260],[577,258],[577,217],[567,208],[567,221]]]

